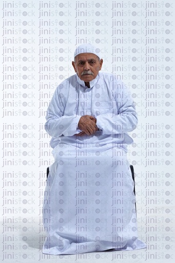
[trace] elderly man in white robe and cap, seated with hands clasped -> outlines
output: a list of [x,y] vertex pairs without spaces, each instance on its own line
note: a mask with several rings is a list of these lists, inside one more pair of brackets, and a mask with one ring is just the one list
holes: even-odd
[[77,47],[76,74],[56,88],[47,110],[55,162],[43,205],[46,254],[145,248],[126,157],[138,119],[128,89],[99,72],[102,64],[98,48]]

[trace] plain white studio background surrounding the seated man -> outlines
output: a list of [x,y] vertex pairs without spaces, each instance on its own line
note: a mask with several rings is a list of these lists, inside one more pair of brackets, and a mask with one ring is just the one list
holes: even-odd
[[[2,260],[4,262],[174,262],[173,1],[1,3]],[[74,49],[98,47],[103,71],[132,92],[131,133],[139,237],[146,250],[79,256],[42,254],[46,168],[53,162],[45,112],[74,74]]]

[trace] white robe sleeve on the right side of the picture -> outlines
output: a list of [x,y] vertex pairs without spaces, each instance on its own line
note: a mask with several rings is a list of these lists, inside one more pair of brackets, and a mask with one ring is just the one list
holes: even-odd
[[115,87],[113,98],[116,102],[116,109],[113,110],[113,113],[107,112],[96,117],[96,125],[102,130],[102,134],[131,132],[138,124],[137,113],[129,89],[121,83],[116,84]]

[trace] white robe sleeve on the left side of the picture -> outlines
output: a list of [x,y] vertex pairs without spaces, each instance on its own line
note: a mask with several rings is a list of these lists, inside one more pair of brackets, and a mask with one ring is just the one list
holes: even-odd
[[46,132],[53,138],[60,136],[73,136],[80,132],[77,125],[81,116],[63,116],[67,102],[67,92],[59,92],[59,87],[54,92],[46,114]]

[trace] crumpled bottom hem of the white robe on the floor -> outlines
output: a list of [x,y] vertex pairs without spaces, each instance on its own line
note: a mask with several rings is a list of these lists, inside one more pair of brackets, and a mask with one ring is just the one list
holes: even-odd
[[[110,241],[91,241],[91,242],[83,242],[83,243],[70,243],[66,249],[60,249],[59,247],[52,247],[52,248],[45,248],[45,244],[43,245],[43,254],[50,254],[50,255],[75,255],[75,254],[83,254],[83,253],[90,253],[90,252],[102,252],[106,250],[114,250],[114,251],[131,251],[131,250],[138,250],[146,248],[144,242],[140,239],[136,240],[127,240],[124,242],[119,242],[118,245],[113,245],[114,242]],[[82,248],[85,246],[85,248]],[[97,249],[97,247],[100,247]]]

